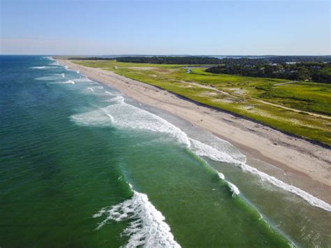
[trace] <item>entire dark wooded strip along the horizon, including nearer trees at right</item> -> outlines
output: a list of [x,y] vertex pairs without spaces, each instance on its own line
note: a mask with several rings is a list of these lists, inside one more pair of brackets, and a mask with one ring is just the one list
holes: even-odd
[[127,57],[72,57],[77,60],[116,60],[147,64],[217,64],[207,68],[209,73],[245,75],[261,78],[311,80],[331,83],[331,56],[270,56],[249,59],[200,56],[127,56]]

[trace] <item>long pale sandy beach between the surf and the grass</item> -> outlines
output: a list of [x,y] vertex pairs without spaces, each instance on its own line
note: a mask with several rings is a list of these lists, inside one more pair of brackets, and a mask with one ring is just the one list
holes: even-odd
[[[227,140],[247,156],[247,163],[331,203],[331,151],[262,124],[215,110],[175,94],[117,75],[57,59],[83,75],[109,85],[135,101],[159,108]],[[270,166],[272,165],[272,166]],[[279,168],[277,173],[270,167]]]

